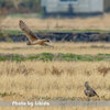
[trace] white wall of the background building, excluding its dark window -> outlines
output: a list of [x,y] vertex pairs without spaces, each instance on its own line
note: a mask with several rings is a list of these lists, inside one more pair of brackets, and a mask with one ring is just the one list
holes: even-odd
[[[61,4],[59,0],[42,0],[42,6],[47,12],[67,12],[68,4]],[[103,0],[78,0],[78,4],[73,4],[75,13],[103,12]]]

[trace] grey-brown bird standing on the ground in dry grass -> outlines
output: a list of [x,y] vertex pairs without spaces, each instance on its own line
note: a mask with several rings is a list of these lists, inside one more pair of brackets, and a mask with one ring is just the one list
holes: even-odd
[[85,95],[86,95],[88,98],[89,98],[89,97],[94,97],[94,96],[99,97],[99,96],[97,95],[97,92],[89,86],[89,82],[88,82],[88,81],[85,82],[85,87],[86,87],[86,89],[85,89]]

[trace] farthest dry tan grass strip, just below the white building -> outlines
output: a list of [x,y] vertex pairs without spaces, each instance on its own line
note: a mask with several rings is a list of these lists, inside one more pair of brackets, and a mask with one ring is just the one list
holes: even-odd
[[94,18],[75,18],[75,19],[38,19],[38,18],[6,18],[1,26],[3,29],[19,29],[19,20],[24,20],[33,30],[56,30],[56,29],[92,29],[110,30],[110,14]]

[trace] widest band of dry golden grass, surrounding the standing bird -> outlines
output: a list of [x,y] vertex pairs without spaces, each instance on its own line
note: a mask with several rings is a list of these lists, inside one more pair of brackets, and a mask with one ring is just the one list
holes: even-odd
[[109,67],[110,63],[107,62],[1,62],[0,100],[46,100],[59,97],[87,100],[84,95],[86,80],[97,90],[100,100],[109,100],[110,70],[99,70]]

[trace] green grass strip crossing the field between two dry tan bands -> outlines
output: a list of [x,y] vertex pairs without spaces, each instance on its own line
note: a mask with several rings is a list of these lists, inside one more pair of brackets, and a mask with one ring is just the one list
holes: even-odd
[[97,54],[97,55],[76,55],[72,53],[40,53],[33,55],[21,55],[21,54],[0,54],[0,61],[6,62],[24,62],[24,61],[43,61],[43,62],[55,62],[55,61],[67,61],[67,62],[110,62],[110,54]]

